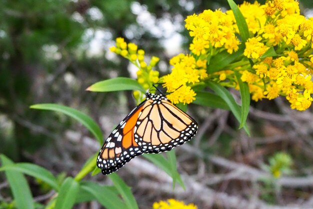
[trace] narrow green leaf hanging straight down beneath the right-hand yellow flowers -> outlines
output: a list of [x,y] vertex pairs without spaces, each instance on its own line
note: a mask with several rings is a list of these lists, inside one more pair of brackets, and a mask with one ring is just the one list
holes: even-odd
[[250,107],[250,92],[249,86],[246,82],[241,81],[241,74],[238,71],[234,71],[235,76],[237,78],[239,88],[240,88],[240,96],[241,96],[241,120],[239,128],[245,124],[246,118],[249,114]]

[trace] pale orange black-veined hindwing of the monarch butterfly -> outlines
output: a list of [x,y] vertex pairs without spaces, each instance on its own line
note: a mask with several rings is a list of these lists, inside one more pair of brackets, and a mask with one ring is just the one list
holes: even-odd
[[134,141],[145,152],[167,151],[190,140],[197,123],[166,97],[149,94],[134,128]]

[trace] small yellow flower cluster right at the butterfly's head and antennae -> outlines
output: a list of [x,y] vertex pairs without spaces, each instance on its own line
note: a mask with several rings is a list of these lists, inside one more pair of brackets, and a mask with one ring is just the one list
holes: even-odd
[[207,78],[205,60],[196,61],[191,55],[179,54],[173,57],[169,64],[173,66],[170,74],[162,77],[167,98],[173,103],[191,103],[195,100],[195,92],[191,86]]

